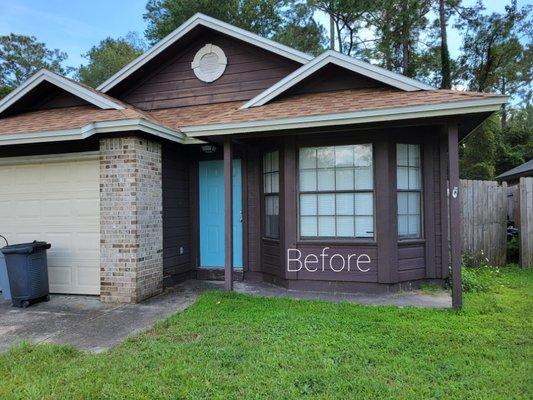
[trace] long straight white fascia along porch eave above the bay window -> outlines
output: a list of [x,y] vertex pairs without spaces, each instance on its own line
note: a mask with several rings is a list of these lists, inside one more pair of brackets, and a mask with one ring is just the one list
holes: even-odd
[[507,97],[502,96],[483,100],[380,108],[374,110],[319,114],[296,118],[278,118],[263,121],[197,125],[183,127],[181,128],[181,131],[189,137],[202,137],[493,112],[499,110],[501,105],[506,102],[506,99]]

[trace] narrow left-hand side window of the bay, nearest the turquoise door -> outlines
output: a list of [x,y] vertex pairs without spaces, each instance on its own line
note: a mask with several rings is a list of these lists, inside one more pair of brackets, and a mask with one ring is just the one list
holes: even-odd
[[279,152],[263,156],[264,234],[279,238]]

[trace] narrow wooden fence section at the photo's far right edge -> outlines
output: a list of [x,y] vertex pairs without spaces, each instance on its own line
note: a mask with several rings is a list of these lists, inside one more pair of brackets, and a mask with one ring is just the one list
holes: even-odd
[[520,265],[533,267],[533,178],[520,178]]

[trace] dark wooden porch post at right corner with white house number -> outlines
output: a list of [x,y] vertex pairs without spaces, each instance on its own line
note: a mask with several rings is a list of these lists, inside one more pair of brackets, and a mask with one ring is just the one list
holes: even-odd
[[452,266],[452,306],[463,306],[461,284],[461,223],[459,216],[459,134],[457,124],[448,126],[448,180],[450,209],[450,260]]

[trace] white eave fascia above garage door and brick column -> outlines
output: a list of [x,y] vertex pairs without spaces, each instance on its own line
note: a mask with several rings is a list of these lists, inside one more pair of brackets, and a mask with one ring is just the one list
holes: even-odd
[[199,143],[198,139],[187,139],[181,132],[157,125],[144,119],[124,119],[93,122],[76,129],[40,131],[31,133],[1,134],[0,146],[12,144],[45,143],[66,140],[83,140],[99,133],[141,131],[153,136],[181,144]]

